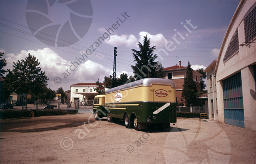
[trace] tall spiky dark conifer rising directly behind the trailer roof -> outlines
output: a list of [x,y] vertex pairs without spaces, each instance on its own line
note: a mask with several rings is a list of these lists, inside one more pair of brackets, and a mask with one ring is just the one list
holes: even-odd
[[139,46],[139,51],[131,49],[135,59],[134,62],[136,62],[135,66],[131,66],[133,73],[135,74],[135,79],[144,79],[148,77],[148,74],[149,77],[156,77],[157,62],[155,60],[157,55],[153,54],[156,47],[150,47],[150,39],[148,39],[147,35],[144,36],[143,44],[138,42],[137,45]]

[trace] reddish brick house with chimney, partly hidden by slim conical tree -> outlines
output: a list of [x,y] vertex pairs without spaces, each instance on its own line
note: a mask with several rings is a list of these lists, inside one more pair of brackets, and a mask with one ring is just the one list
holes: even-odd
[[[167,68],[163,68],[163,78],[170,79],[175,83],[176,86],[176,97],[177,102],[182,102],[182,89],[184,84],[184,76],[186,75],[186,66],[181,65],[181,61],[179,61],[179,65],[170,66]],[[197,89],[200,91],[200,74],[197,71],[193,71],[194,81]]]

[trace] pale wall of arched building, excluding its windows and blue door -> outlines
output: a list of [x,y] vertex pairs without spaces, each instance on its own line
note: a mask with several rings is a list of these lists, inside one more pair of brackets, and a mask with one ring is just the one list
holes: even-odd
[[[242,44],[245,41],[245,30],[243,18],[248,10],[255,4],[254,0],[245,0],[241,4],[241,8],[237,11],[236,17],[233,18],[233,24],[226,35],[225,43],[223,43],[223,50],[219,56],[219,63],[216,72],[217,81],[217,98],[218,98],[218,116],[216,121],[224,122],[224,108],[223,108],[223,86],[222,81],[231,75],[241,72],[242,77],[242,96],[244,108],[244,124],[245,129],[256,131],[256,89],[253,65],[256,65],[256,43],[250,43],[244,46],[239,46],[239,50],[234,53],[232,57],[223,61],[224,55],[228,49],[234,33],[238,30],[238,41]],[[251,40],[255,42],[256,39]]]

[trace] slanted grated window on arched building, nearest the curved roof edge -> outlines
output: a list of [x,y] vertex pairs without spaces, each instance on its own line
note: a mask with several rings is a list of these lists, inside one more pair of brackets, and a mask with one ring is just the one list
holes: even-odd
[[232,36],[230,43],[228,44],[228,49],[225,53],[223,62],[225,62],[228,58],[230,58],[235,52],[239,50],[239,43],[238,43],[238,30]]

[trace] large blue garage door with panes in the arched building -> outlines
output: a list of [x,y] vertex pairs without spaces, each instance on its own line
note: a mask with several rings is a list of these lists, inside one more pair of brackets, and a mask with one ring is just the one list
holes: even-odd
[[241,72],[223,80],[225,123],[244,128]]

